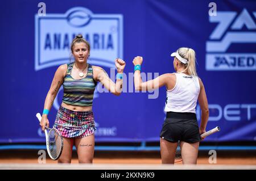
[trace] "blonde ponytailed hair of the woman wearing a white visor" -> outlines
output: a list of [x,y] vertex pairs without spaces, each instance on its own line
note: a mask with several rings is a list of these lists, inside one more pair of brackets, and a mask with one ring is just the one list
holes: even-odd
[[180,64],[185,66],[184,72],[187,72],[189,75],[195,75],[197,76],[196,73],[196,52],[192,48],[184,48],[181,47],[177,50],[179,55],[182,58],[185,58],[188,60],[188,64],[183,64],[183,62],[179,61]]

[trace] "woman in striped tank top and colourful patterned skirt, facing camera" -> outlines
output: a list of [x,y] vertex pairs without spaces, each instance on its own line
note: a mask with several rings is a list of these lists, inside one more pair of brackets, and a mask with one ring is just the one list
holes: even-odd
[[44,130],[49,127],[47,114],[53,101],[63,85],[63,101],[56,115],[53,127],[58,129],[63,136],[63,152],[58,159],[59,163],[71,163],[72,148],[75,144],[79,163],[92,163],[94,154],[94,118],[92,112],[93,94],[97,82],[114,95],[120,95],[122,91],[122,73],[125,61],[117,58],[117,81],[114,83],[99,66],[87,63],[90,55],[88,41],[77,35],[71,44],[71,52],[75,62],[60,65],[54,75],[52,85],[46,96],[44,112],[40,125]]

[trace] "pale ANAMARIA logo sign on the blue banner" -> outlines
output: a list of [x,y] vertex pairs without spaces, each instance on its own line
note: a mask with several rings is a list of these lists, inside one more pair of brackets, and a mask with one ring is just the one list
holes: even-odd
[[79,33],[91,46],[89,64],[115,68],[115,58],[123,58],[123,16],[73,7],[65,14],[35,15],[35,70],[67,64]]

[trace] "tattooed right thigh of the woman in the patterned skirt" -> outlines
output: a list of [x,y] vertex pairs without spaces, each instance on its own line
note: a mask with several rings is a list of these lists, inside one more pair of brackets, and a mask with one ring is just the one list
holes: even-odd
[[76,138],[75,145],[79,163],[92,163],[94,155],[94,134],[83,138]]

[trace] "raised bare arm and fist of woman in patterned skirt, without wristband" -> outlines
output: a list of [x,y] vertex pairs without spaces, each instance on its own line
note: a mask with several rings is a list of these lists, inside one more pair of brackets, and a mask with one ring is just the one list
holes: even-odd
[[[123,73],[125,68],[125,61],[121,59],[115,60],[115,66],[117,66],[117,73]],[[109,78],[108,73],[99,66],[93,66],[94,75],[97,81],[100,81],[106,89],[112,92],[114,95],[120,95],[123,88],[123,79],[117,79],[115,83]]]

